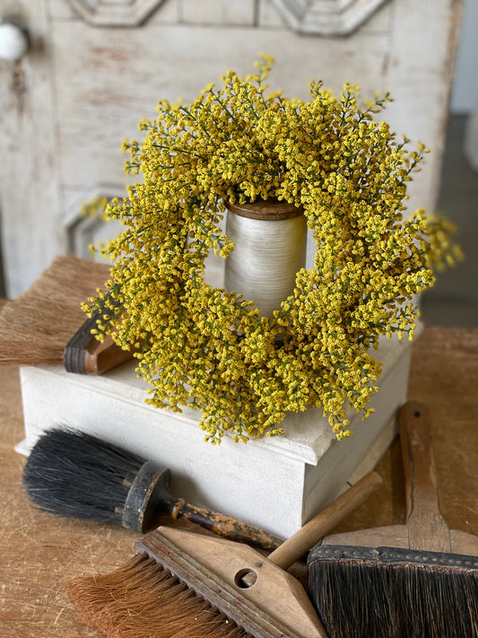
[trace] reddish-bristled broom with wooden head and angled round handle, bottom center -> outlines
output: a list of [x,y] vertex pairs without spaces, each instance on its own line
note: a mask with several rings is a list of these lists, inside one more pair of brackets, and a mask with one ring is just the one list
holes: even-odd
[[158,528],[115,572],[68,582],[87,625],[109,638],[326,638],[289,572],[382,484],[368,475],[267,557],[247,545]]

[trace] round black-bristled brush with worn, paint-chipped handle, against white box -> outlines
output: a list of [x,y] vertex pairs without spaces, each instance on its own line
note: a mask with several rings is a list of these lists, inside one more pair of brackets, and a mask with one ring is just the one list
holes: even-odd
[[57,427],[30,452],[23,483],[43,511],[97,520],[138,532],[157,527],[162,515],[264,549],[282,540],[254,525],[207,511],[169,492],[170,471],[91,434]]

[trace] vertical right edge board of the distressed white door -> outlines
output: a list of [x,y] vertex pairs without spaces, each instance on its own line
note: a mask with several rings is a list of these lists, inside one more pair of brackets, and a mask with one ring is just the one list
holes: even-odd
[[395,28],[390,54],[383,69],[384,82],[395,102],[387,115],[395,130],[430,149],[422,172],[410,186],[409,210],[433,211],[437,203],[441,160],[445,144],[461,4],[439,0],[420,4],[400,0],[395,4]]

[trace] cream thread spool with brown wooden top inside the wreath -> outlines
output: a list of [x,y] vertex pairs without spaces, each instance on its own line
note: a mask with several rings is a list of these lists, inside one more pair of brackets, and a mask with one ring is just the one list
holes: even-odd
[[226,259],[224,288],[254,301],[271,318],[293,293],[297,272],[306,264],[304,212],[274,199],[226,206],[226,234],[235,248]]

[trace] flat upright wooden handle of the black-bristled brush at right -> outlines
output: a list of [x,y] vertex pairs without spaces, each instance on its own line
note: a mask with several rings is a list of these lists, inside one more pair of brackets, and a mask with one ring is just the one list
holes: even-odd
[[410,548],[450,552],[449,529],[439,511],[437,474],[431,450],[430,411],[418,401],[409,401],[400,408],[398,421]]

